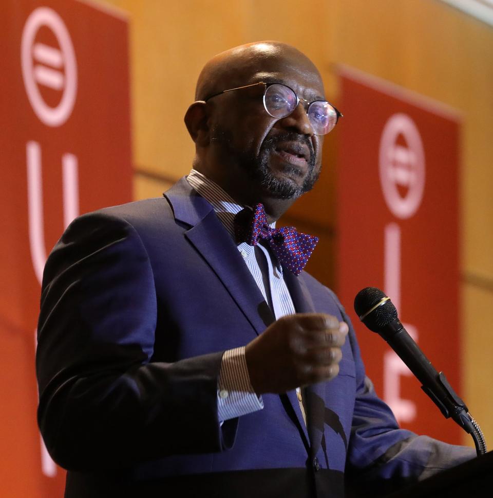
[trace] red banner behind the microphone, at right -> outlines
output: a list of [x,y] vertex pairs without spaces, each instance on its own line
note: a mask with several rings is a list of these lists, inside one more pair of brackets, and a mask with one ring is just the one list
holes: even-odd
[[460,394],[457,115],[403,88],[340,73],[338,291],[367,374],[404,428],[460,443],[380,336],[352,311],[357,292],[382,289],[407,331]]

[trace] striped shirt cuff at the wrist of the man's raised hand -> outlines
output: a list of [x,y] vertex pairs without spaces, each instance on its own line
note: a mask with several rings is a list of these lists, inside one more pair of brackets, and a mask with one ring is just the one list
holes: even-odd
[[224,352],[217,389],[220,421],[262,410],[263,401],[255,394],[248,374],[244,346]]

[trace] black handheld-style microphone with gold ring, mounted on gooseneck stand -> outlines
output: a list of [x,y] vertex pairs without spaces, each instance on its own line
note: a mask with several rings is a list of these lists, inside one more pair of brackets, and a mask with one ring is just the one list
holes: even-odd
[[466,404],[454,392],[443,372],[435,370],[413,341],[397,316],[390,298],[376,287],[366,287],[354,298],[354,311],[371,331],[381,335],[399,355],[445,418],[451,417],[468,434],[475,432],[475,421],[467,413]]

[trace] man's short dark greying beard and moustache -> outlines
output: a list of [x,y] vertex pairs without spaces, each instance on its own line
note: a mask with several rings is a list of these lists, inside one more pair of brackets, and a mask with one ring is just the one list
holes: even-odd
[[[249,178],[262,186],[275,199],[297,199],[300,195],[311,190],[318,180],[320,171],[315,169],[315,152],[310,139],[306,135],[291,132],[266,137],[262,142],[258,155],[250,150],[238,151],[233,146],[231,134],[219,127],[213,129],[211,141],[216,141],[226,146],[229,154],[235,157],[237,163]],[[296,166],[285,164],[281,170],[281,173],[286,175],[284,177],[276,176],[269,167],[270,155],[275,151],[277,144],[285,141],[304,143],[310,151],[308,169],[305,180],[301,185],[287,177],[288,175],[303,176],[304,173]]]

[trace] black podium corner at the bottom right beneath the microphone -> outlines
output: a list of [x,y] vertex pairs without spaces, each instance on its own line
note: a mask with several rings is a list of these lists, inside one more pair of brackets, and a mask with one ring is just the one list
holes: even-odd
[[[491,496],[493,451],[444,470],[421,483],[387,494],[385,498],[450,498],[451,496]],[[489,491],[488,491],[489,490]]]

